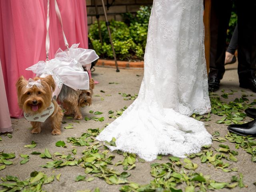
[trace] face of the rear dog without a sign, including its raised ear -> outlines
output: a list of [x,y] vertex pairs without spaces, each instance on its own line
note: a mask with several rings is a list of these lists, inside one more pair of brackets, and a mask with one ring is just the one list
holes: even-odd
[[80,107],[90,106],[92,104],[92,94],[94,89],[94,80],[90,79],[89,90],[81,90],[78,105]]

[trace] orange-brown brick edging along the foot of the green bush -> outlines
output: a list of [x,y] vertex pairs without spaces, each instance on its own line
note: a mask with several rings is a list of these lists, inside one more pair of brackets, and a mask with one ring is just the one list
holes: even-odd
[[[144,61],[139,61],[139,62],[117,61],[117,64],[119,68],[138,68],[138,69],[144,68]],[[105,60],[105,59],[99,59],[98,62],[96,63],[96,66],[116,68],[114,60]]]

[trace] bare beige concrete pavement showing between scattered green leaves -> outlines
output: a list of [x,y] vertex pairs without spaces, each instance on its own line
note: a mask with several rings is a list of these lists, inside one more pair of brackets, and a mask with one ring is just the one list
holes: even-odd
[[[226,66],[227,70],[224,75],[224,79],[221,81],[221,88],[217,91],[217,94],[222,94],[221,90],[238,90],[233,95],[229,97],[229,100],[234,100],[234,98],[240,98],[241,88],[238,87],[238,75],[237,75],[237,63],[233,65]],[[83,117],[95,116],[89,113],[89,110],[100,111],[103,112],[105,120],[103,122],[94,121],[94,120],[80,120],[80,123],[72,122],[72,119],[66,119],[64,117],[64,121],[68,123],[72,123],[73,129],[64,129],[63,127],[66,124],[62,125],[62,134],[58,136],[51,135],[50,124],[46,122],[42,127],[42,132],[40,134],[31,134],[30,133],[30,123],[24,118],[21,119],[12,119],[13,125],[13,133],[12,138],[8,138],[8,136],[4,136],[2,134],[2,141],[0,141],[0,151],[4,150],[5,153],[14,152],[16,154],[16,158],[11,159],[13,162],[12,165],[6,166],[4,170],[0,170],[0,176],[13,175],[18,176],[20,179],[26,179],[30,176],[30,173],[33,171],[42,171],[48,174],[49,176],[52,174],[61,173],[60,181],[54,180],[54,182],[44,185],[43,189],[49,192],[65,192],[65,191],[77,191],[77,190],[94,190],[96,187],[100,188],[101,192],[116,192],[122,185],[108,185],[103,179],[95,178],[92,182],[80,181],[75,182],[75,178],[78,175],[84,174],[84,168],[80,166],[66,166],[59,169],[50,169],[50,168],[42,168],[40,165],[46,164],[46,162],[50,161],[49,159],[40,158],[37,155],[30,154],[32,151],[44,152],[45,148],[48,148],[50,153],[55,152],[64,152],[64,154],[70,153],[70,150],[74,148],[70,143],[67,143],[67,148],[60,148],[55,146],[55,143],[59,140],[65,141],[67,137],[80,137],[82,133],[84,133],[88,128],[103,128],[106,123],[112,122],[114,119],[108,118],[108,111],[116,111],[124,108],[124,106],[129,106],[132,103],[132,100],[124,100],[121,94],[118,93],[126,93],[126,94],[138,94],[140,83],[143,78],[143,70],[139,69],[120,69],[120,72],[116,72],[113,68],[102,68],[96,67],[95,72],[92,73],[92,77],[94,80],[99,81],[99,84],[96,84],[94,89],[93,103],[92,106],[86,107],[82,109]],[[111,84],[109,84],[111,83]],[[102,92],[104,91],[104,92]],[[252,94],[251,91],[246,90],[246,94]],[[111,95],[111,96],[110,96]],[[256,99],[255,97],[249,97],[251,101]],[[210,134],[213,134],[215,131],[220,132],[220,136],[224,137],[227,133],[226,125],[224,124],[216,124],[217,120],[220,120],[221,117],[216,116],[214,114],[211,115],[211,121],[205,122],[206,129]],[[35,148],[23,148],[24,145],[30,144],[31,141],[35,141],[37,146]],[[220,143],[214,141],[212,147],[218,148]],[[234,150],[234,144],[225,143],[230,146],[232,150]],[[84,147],[76,147],[77,154],[76,158],[80,158],[82,156],[81,152],[86,148]],[[232,192],[254,192],[256,191],[256,186],[253,184],[256,182],[256,164],[251,162],[251,155],[246,153],[244,150],[240,148],[237,149],[239,155],[236,156],[238,158],[238,162],[232,162],[232,167],[238,167],[238,172],[242,172],[244,175],[244,184],[246,184],[247,188],[239,188],[236,187],[232,190],[230,189],[222,189],[220,191],[232,191]],[[116,163],[119,160],[123,160],[124,157],[116,152],[110,152],[115,156],[113,162]],[[20,154],[28,154],[30,156],[29,161],[26,164],[20,164]],[[155,160],[154,162],[166,163],[169,162],[168,157],[163,157],[162,160]],[[196,172],[202,172],[204,175],[211,175],[211,178],[218,182],[229,182],[232,175],[238,175],[237,172],[222,172],[220,169],[215,169],[213,166],[209,166],[208,164],[202,164],[200,162],[200,158],[193,159],[193,162],[197,163],[199,166],[196,169]],[[133,181],[139,184],[149,184],[150,180],[154,179],[150,175],[150,164],[153,162],[140,163],[136,162],[136,168],[129,170],[128,172],[131,176],[128,178],[129,181]],[[114,166],[114,169],[122,172],[122,166]],[[0,182],[1,183],[1,182]],[[178,188],[182,188],[184,190],[185,186],[180,186]],[[0,188],[1,190],[1,188]]]

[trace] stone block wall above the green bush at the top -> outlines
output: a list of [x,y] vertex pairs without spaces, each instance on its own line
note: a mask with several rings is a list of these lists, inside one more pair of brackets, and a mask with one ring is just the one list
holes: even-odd
[[[100,14],[100,20],[105,20],[104,12],[102,8],[102,1],[101,0],[86,0],[86,7],[87,7],[87,21],[88,26],[93,24],[96,19],[96,10],[95,10],[95,1],[98,3],[98,10]],[[139,10],[141,5],[144,6],[151,6],[153,0],[108,0],[108,3],[113,4],[107,9],[107,0],[104,0],[106,13],[108,16],[108,20],[114,19],[117,21],[122,21],[122,13],[130,12],[135,13]]]

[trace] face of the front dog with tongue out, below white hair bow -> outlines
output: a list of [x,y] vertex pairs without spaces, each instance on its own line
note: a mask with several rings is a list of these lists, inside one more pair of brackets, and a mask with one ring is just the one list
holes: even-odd
[[16,83],[19,107],[28,114],[37,114],[44,111],[52,101],[52,90],[55,89],[52,76],[36,77],[33,80],[39,79],[42,86],[33,85],[28,87],[28,81],[23,76]]

